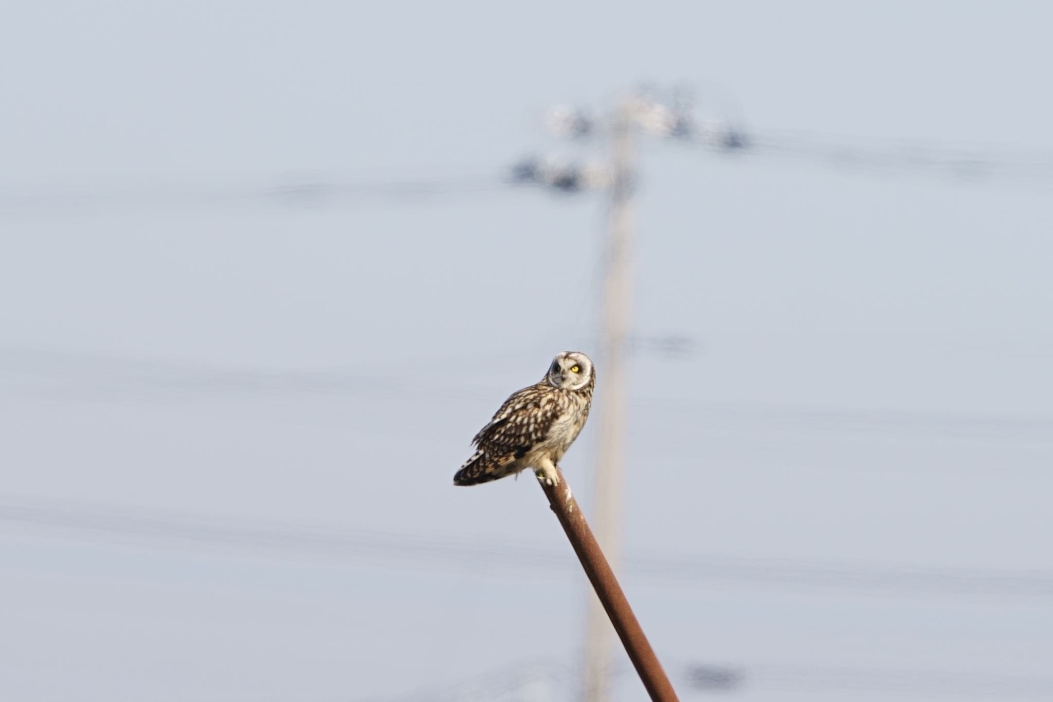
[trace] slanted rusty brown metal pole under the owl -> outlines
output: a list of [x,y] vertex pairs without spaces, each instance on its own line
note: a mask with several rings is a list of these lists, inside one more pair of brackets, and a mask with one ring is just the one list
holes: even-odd
[[636,673],[654,702],[679,702],[676,691],[673,690],[673,684],[670,683],[658,657],[643,635],[643,629],[636,620],[633,608],[629,606],[629,600],[621,591],[607,557],[596,543],[596,537],[593,536],[584,515],[581,514],[574,495],[571,494],[570,485],[567,484],[562,472],[559,468],[556,468],[556,472],[559,482],[555,485],[550,485],[543,476],[538,476],[538,482],[549,498],[549,504],[556,513],[556,518],[563,525],[567,538],[570,539],[574,553],[578,555],[581,567],[585,569],[589,582],[596,590],[607,616],[611,618],[614,630],[618,633],[618,638],[625,646],[629,659],[633,661]]

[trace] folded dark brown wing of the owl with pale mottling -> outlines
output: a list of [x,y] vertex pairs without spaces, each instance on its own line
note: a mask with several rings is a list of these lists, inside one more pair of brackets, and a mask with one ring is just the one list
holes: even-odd
[[514,393],[472,439],[493,457],[522,458],[544,439],[559,417],[558,403],[537,385]]

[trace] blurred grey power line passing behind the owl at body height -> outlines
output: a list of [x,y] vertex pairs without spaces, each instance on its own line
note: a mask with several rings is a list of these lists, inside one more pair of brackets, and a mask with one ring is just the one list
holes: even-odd
[[[495,350],[483,352],[483,355],[488,358],[514,358],[522,357],[520,352]],[[465,357],[464,360],[469,358],[477,356]],[[503,400],[510,389],[436,382],[435,372],[456,364],[456,359],[417,357],[398,361],[397,374],[378,376],[338,368],[252,370],[75,352],[0,347],[0,388],[7,397],[82,402],[171,402],[215,397],[236,400],[302,397],[356,401],[380,397],[420,402],[472,402],[488,410],[493,409],[490,404]],[[1029,442],[1053,448],[1053,417],[1041,414],[912,412],[638,396],[632,398],[630,404],[648,413],[671,415],[668,421],[690,417],[693,423],[698,424],[704,420],[708,429],[891,434],[969,441]]]

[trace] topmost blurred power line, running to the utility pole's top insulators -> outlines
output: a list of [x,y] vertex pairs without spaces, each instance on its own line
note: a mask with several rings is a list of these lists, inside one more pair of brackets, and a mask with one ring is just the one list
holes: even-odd
[[[919,139],[845,137],[804,131],[770,129],[743,134],[731,153],[813,162],[841,168],[887,174],[922,173],[952,176],[976,184],[991,180],[1045,182],[1053,180],[1053,147],[982,146]],[[709,141],[681,140],[709,151],[729,151]],[[568,165],[568,174],[585,166]],[[275,204],[293,207],[340,206],[365,202],[425,202],[437,198],[474,196],[516,187],[511,166],[493,173],[403,176],[356,180],[332,174],[284,178],[227,179],[225,182],[117,182],[110,187],[71,185],[0,185],[0,214],[90,214],[114,209],[208,209]],[[559,183],[542,183],[568,192]],[[589,187],[571,188],[588,192]],[[602,189],[599,186],[595,189]]]

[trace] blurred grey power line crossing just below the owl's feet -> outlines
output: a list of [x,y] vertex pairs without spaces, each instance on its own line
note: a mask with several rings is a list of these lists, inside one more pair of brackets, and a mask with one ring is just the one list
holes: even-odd
[[[453,489],[453,488],[451,488]],[[565,551],[515,542],[485,542],[442,535],[413,535],[296,522],[238,521],[171,510],[132,510],[61,501],[0,498],[7,534],[26,529],[64,538],[119,543],[234,550],[238,555],[321,558],[361,564],[410,562],[450,569],[500,566],[510,570],[565,575],[574,557]],[[16,528],[21,527],[21,528]],[[354,557],[354,561],[345,559]],[[876,566],[849,561],[750,559],[715,556],[631,555],[623,573],[647,580],[738,583],[818,590],[898,595],[966,595],[1053,598],[1053,570]]]

